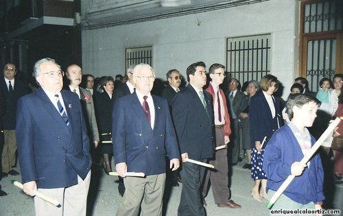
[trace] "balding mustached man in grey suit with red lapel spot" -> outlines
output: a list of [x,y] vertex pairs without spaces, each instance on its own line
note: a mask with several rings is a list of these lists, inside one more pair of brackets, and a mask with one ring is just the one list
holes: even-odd
[[69,89],[67,90],[78,94],[84,120],[86,121],[89,140],[93,141],[94,147],[97,148],[99,144],[99,132],[97,130],[97,120],[95,119],[93,97],[89,90],[79,86],[82,81],[82,69],[77,64],[72,64],[68,66],[66,75],[69,80]]

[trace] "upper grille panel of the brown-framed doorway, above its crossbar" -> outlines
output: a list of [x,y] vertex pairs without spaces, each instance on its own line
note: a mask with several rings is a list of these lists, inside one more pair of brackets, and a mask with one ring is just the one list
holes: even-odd
[[343,1],[329,0],[305,5],[304,33],[343,29]]

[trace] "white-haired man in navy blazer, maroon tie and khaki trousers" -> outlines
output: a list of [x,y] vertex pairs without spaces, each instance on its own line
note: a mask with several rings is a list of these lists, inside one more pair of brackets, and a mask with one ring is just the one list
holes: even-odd
[[138,215],[140,207],[141,215],[162,215],[165,154],[174,171],[180,165],[180,152],[167,100],[150,94],[155,80],[151,66],[135,66],[132,76],[135,93],[115,100],[113,152],[121,177],[126,172],[143,172],[146,177],[124,178],[126,191],[117,215]]

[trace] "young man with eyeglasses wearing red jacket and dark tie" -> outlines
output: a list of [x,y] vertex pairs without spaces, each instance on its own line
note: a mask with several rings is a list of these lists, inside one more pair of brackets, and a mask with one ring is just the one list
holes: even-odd
[[[212,187],[213,198],[218,207],[241,208],[231,200],[231,192],[228,187],[228,152],[226,145],[230,141],[230,116],[226,106],[226,96],[220,85],[225,76],[225,66],[222,64],[213,64],[209,68],[211,82],[206,92],[212,96],[214,122],[215,122],[215,157],[209,163],[215,166],[215,170],[206,170],[202,195],[206,197],[209,186]],[[221,148],[224,147],[224,148]],[[206,203],[206,202],[204,202]]]

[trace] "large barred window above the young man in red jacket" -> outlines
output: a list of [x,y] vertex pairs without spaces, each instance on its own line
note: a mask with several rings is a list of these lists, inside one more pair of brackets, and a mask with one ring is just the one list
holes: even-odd
[[270,72],[270,34],[226,39],[226,71],[228,79],[242,84],[260,80]]

